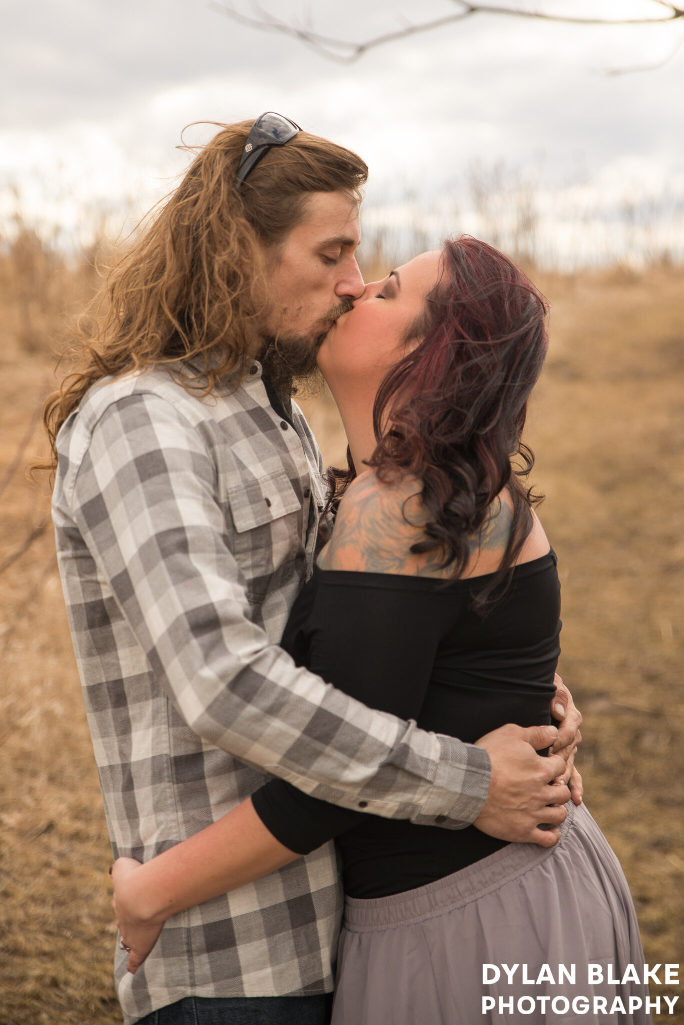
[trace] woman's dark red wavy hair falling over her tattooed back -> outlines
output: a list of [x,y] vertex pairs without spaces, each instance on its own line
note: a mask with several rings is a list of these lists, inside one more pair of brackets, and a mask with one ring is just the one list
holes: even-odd
[[[440,280],[409,332],[423,340],[390,370],[375,399],[369,465],[380,480],[412,474],[423,482],[429,519],[412,551],[440,550],[442,567],[460,576],[473,536],[510,488],[513,528],[497,573],[476,599],[481,611],[502,589],[539,500],[522,483],[534,461],[522,430],[547,354],[547,313],[542,295],[504,253],[469,236],[447,240]],[[351,461],[349,471],[330,474],[335,499],[354,476]]]

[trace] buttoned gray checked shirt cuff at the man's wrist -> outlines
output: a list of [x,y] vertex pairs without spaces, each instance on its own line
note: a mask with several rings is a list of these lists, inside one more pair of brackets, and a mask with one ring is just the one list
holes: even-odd
[[465,829],[484,808],[489,792],[491,763],[484,747],[455,737],[438,736],[441,754],[435,782],[420,813],[411,821]]

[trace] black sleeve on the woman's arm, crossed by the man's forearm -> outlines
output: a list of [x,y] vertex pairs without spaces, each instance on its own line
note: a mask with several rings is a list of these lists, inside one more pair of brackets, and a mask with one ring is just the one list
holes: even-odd
[[[309,620],[312,671],[345,693],[402,719],[417,719],[445,624],[440,596],[398,577],[320,574]],[[433,601],[437,598],[437,602]],[[296,854],[309,854],[363,821],[366,811],[335,807],[282,779],[252,794],[264,825]]]

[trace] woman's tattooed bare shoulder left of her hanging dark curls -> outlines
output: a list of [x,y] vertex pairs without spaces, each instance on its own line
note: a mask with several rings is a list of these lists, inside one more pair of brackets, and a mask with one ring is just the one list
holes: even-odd
[[321,569],[412,575],[410,547],[423,537],[425,524],[420,491],[420,482],[412,477],[388,484],[372,469],[357,477],[319,556]]

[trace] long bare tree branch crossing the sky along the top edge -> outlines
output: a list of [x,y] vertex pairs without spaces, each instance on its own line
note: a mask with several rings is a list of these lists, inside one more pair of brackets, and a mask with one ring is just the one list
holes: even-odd
[[[226,17],[230,17],[233,22],[237,22],[239,25],[245,25],[252,29],[258,29],[261,32],[278,32],[281,35],[297,39],[299,42],[316,50],[329,60],[335,60],[338,64],[352,64],[354,60],[358,60],[359,57],[368,50],[376,46],[383,46],[386,43],[393,43],[399,39],[406,39],[407,37],[414,36],[417,33],[431,32],[433,29],[440,29],[448,25],[454,25],[456,22],[462,22],[465,18],[471,17],[473,14],[508,14],[512,17],[535,18],[544,22],[562,22],[566,25],[658,25],[663,22],[675,22],[680,17],[684,17],[684,8],[677,7],[674,3],[668,2],[668,0],[651,0],[652,3],[657,4],[659,7],[663,7],[669,11],[669,13],[665,14],[662,17],[636,18],[572,17],[569,14],[549,14],[544,11],[522,10],[520,8],[504,7],[498,4],[469,3],[467,0],[453,0],[453,2],[460,6],[460,10],[456,11],[454,14],[434,18],[431,22],[421,22],[418,25],[409,24],[403,29],[398,29],[395,32],[388,32],[380,36],[375,36],[373,39],[368,39],[363,43],[351,42],[350,40],[345,39],[335,39],[331,36],[323,36],[314,32],[311,27],[311,12],[309,12],[306,18],[306,27],[305,25],[297,25],[296,22],[283,22],[275,14],[265,10],[258,3],[258,0],[254,0],[251,4],[254,16],[243,14],[241,11],[238,11],[233,5],[232,0],[229,0],[228,3],[224,4],[217,3],[215,0],[210,0],[209,7],[220,14],[225,14]],[[621,72],[616,71],[612,74],[621,74]]]

